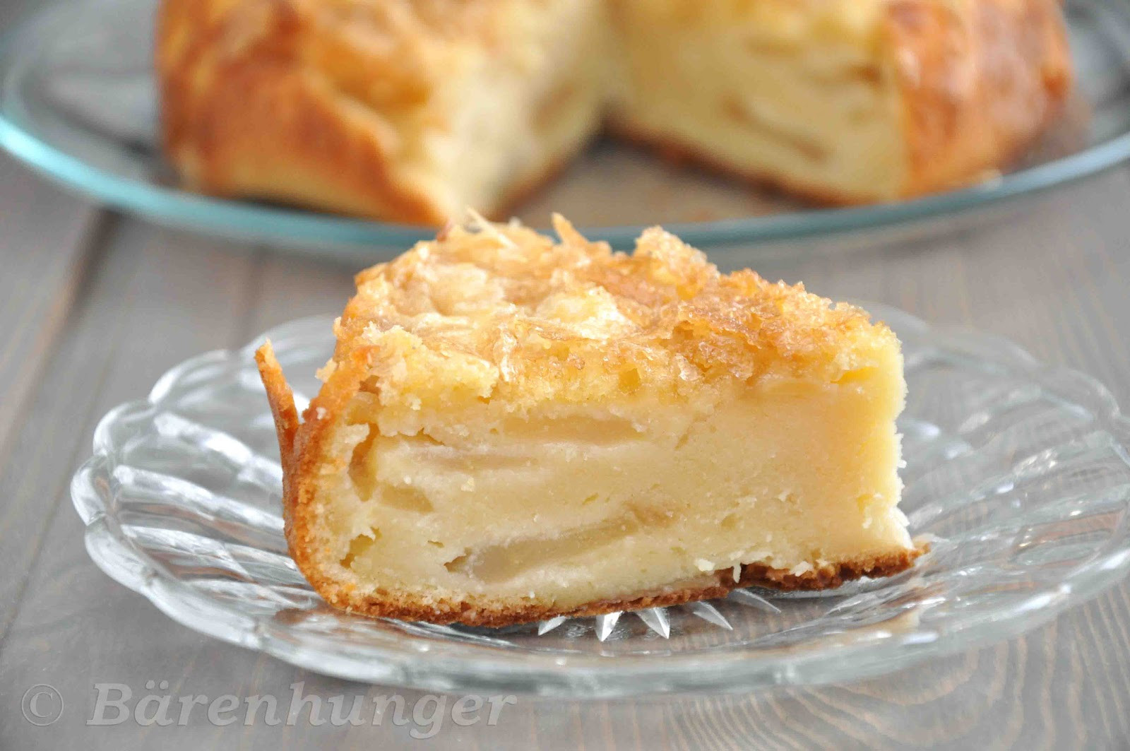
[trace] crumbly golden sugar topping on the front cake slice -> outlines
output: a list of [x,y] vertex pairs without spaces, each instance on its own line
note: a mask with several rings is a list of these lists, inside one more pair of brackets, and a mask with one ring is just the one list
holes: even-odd
[[382,404],[505,399],[677,399],[774,376],[836,381],[897,352],[859,308],[721,274],[661,228],[633,253],[589,242],[564,218],[560,241],[516,223],[473,221],[357,276],[321,372],[364,361]]

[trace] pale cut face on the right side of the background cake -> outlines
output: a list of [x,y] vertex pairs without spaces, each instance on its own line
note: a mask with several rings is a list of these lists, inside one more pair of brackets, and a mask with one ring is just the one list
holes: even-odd
[[728,3],[615,3],[616,127],[827,198],[896,197],[907,153],[873,3],[765,5],[750,19]]

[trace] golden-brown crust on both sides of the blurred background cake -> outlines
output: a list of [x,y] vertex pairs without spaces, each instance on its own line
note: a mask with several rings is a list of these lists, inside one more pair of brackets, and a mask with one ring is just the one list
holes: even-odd
[[[426,189],[399,176],[391,119],[429,96],[445,69],[437,52],[445,43],[459,36],[499,43],[492,33],[501,5],[370,0],[348,11],[347,5],[164,0],[157,43],[163,137],[190,187],[411,224],[449,218]],[[1058,0],[883,5],[905,113],[910,169],[901,196],[967,184],[1005,166],[1066,98],[1070,58]],[[870,200],[734,170],[662,133],[629,135],[819,202]],[[499,215],[538,182],[523,178],[498,206],[481,208]]]

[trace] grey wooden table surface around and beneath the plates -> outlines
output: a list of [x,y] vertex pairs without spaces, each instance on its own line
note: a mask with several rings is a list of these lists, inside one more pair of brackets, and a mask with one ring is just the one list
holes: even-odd
[[[723,260],[746,264],[740,253]],[[932,322],[1007,336],[1042,360],[1095,376],[1130,404],[1130,169],[935,240],[758,266],[828,296],[881,301]],[[108,408],[144,395],[190,355],[338,311],[354,270],[122,217],[0,157],[0,748],[411,745],[411,723],[220,727],[197,713],[185,726],[86,724],[96,683],[125,684],[138,697],[288,700],[296,682],[321,697],[397,691],[319,676],[172,622],[90,562],[68,494]],[[157,688],[147,690],[148,681]],[[21,711],[38,684],[64,702],[58,722],[42,727]],[[409,707],[420,697],[399,692]],[[494,726],[447,722],[428,742],[1130,748],[1130,584],[1025,637],[883,679],[728,698],[520,699]]]

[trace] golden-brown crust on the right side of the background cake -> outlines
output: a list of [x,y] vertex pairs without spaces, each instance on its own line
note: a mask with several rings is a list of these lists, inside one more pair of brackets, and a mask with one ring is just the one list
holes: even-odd
[[1071,59],[1059,0],[892,0],[910,173],[918,196],[1018,157],[1059,112]]

